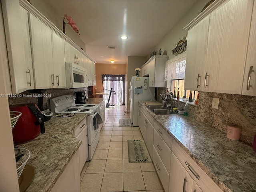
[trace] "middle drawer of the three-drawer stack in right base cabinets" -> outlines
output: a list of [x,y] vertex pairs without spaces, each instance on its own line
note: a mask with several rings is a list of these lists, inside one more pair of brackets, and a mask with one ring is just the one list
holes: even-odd
[[170,164],[171,164],[171,150],[166,145],[164,140],[160,137],[158,132],[154,129],[154,147],[156,148],[156,151],[161,158],[162,162],[164,163],[164,166],[168,173],[170,174]]

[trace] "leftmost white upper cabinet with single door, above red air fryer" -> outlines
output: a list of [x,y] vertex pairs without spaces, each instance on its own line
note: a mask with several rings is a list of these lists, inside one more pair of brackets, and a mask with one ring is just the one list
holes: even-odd
[[2,1],[2,10],[11,89],[12,94],[18,94],[28,89],[34,89],[28,12],[20,7],[18,2],[8,0]]

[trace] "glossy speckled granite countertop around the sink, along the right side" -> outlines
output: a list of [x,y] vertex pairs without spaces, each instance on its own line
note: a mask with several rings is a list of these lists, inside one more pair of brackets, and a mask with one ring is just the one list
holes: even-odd
[[[143,102],[140,104],[144,105]],[[256,192],[256,153],[226,133],[183,115],[143,107],[224,192]]]

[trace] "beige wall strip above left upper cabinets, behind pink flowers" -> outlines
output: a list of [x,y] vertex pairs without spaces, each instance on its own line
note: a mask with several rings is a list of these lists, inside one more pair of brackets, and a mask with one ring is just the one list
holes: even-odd
[[[41,12],[50,22],[52,22],[57,28],[62,31],[62,17],[58,12],[46,1],[42,0],[30,0],[31,4]],[[74,32],[74,30],[66,24],[66,36],[68,36],[75,44],[82,47],[85,50],[85,43],[80,39],[80,37]]]

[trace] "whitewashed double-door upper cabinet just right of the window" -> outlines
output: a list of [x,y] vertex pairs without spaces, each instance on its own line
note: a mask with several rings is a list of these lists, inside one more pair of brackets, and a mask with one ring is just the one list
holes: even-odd
[[186,89],[241,94],[252,7],[251,0],[219,0],[186,26]]

